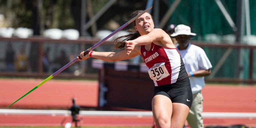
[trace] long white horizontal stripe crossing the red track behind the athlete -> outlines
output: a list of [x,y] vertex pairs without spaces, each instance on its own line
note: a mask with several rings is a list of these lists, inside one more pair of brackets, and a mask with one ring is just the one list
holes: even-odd
[[[64,115],[69,116],[69,110],[27,110],[0,109],[0,115]],[[151,111],[80,111],[81,116],[137,116],[152,117]],[[203,112],[204,118],[256,118],[256,113],[249,112]]]

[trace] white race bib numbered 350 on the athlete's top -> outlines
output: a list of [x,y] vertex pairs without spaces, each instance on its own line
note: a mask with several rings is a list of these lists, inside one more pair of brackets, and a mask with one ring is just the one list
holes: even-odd
[[164,64],[165,63],[155,64],[148,70],[148,74],[152,80],[159,81],[170,75]]

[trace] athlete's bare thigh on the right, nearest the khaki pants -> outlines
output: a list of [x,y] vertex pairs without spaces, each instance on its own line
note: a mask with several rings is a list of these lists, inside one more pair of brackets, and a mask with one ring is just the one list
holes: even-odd
[[189,107],[182,103],[172,103],[171,128],[183,128],[189,113]]

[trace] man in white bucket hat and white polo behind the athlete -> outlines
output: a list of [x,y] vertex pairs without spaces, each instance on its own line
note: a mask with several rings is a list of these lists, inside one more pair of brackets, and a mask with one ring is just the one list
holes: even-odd
[[203,125],[203,95],[201,90],[205,86],[204,76],[211,74],[212,65],[204,50],[190,43],[190,38],[195,36],[190,27],[177,25],[171,37],[176,38],[176,46],[185,64],[193,94],[193,103],[187,121],[191,128],[204,128]]

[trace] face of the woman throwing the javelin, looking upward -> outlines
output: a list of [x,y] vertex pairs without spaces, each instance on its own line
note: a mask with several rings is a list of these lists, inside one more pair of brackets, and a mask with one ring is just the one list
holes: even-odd
[[141,15],[135,20],[135,23],[136,25],[134,28],[140,33],[140,35],[146,35],[154,29],[154,21],[149,13]]

